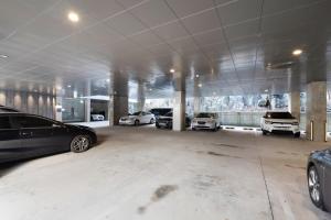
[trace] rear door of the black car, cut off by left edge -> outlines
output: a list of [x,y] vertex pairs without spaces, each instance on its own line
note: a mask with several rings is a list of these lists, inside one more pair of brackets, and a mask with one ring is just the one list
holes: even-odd
[[24,157],[19,133],[9,116],[0,116],[0,163]]

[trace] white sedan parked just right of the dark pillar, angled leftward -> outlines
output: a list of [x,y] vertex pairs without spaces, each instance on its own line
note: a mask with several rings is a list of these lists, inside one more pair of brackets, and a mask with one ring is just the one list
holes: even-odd
[[121,117],[119,119],[120,125],[139,125],[139,124],[153,124],[156,122],[154,114],[145,111],[138,111],[132,114]]

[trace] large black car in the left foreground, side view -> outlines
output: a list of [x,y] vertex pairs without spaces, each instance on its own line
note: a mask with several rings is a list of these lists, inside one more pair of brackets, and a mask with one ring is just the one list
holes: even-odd
[[0,163],[62,152],[84,152],[96,144],[94,130],[28,113],[0,113]]

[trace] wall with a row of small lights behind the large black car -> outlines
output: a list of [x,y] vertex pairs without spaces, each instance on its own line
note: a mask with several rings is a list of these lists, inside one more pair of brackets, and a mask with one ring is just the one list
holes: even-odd
[[0,90],[0,105],[54,119],[55,96],[28,91]]

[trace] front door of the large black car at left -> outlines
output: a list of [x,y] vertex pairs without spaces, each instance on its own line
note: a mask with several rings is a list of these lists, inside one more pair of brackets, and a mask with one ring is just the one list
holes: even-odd
[[[13,123],[20,131],[22,147],[29,157],[60,152],[58,140],[53,135],[54,123],[34,116],[17,116]],[[63,151],[63,150],[62,150]]]

